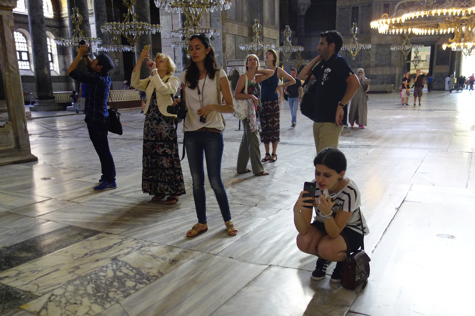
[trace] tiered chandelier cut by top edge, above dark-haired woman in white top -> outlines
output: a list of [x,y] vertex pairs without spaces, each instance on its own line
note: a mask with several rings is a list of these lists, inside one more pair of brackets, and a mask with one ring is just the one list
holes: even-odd
[[171,31],[172,36],[180,36],[181,40],[171,42],[172,47],[181,47],[189,53],[188,46],[190,37],[194,34],[204,33],[207,36],[219,35],[221,30],[209,27],[200,27],[201,16],[206,11],[228,10],[231,8],[231,0],[155,0],[158,8],[171,13],[184,13],[186,21],[183,28]]

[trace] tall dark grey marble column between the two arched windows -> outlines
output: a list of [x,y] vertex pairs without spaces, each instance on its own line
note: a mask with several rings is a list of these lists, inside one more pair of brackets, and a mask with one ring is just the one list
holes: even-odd
[[31,48],[35,66],[35,106],[30,111],[57,111],[62,106],[55,103],[51,72],[49,70],[48,46],[46,42],[46,21],[42,0],[28,0],[28,23],[31,36]]

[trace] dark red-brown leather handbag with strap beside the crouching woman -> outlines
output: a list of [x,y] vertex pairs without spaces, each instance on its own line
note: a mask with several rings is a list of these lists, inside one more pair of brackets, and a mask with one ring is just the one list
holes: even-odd
[[[363,220],[361,218],[360,211],[360,220],[361,220],[361,232],[363,233],[364,239],[364,230],[363,230]],[[350,249],[350,244],[346,239],[346,236],[342,235],[345,239],[347,249]],[[342,271],[342,287],[354,290],[360,284],[363,284],[362,288],[366,287],[368,284],[368,278],[370,277],[370,257],[364,252],[364,241],[361,245],[360,250],[356,250],[350,254],[350,250],[347,250],[346,260],[344,261],[343,271]]]

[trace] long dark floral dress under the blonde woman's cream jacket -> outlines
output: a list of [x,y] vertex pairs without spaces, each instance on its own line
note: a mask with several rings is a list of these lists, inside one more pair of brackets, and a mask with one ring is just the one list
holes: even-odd
[[174,118],[160,113],[155,92],[143,126],[142,191],[185,194]]

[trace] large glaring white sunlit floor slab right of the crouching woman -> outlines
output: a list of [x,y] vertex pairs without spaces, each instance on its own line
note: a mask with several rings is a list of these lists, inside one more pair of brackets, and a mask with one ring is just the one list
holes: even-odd
[[[351,311],[371,316],[472,315],[474,230],[461,220],[473,223],[475,207],[404,202],[371,257],[368,286]],[[430,259],[434,255],[439,259]],[[462,276],[442,276],[441,271],[453,267]]]

